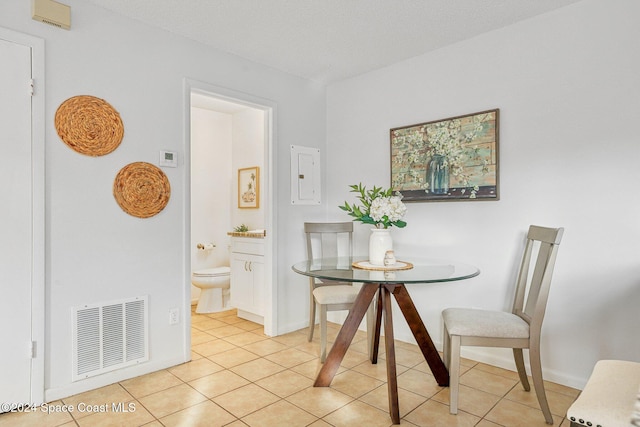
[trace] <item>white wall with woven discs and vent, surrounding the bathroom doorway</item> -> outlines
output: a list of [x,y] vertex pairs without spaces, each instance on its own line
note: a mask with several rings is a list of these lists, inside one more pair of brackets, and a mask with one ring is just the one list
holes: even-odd
[[[188,328],[168,324],[168,310],[189,300],[190,266],[185,255],[189,177],[185,173],[185,78],[267,99],[277,105],[273,147],[275,268],[279,327],[304,318],[306,287],[288,283],[302,245],[288,244],[300,232],[302,212],[289,212],[289,150],[304,140],[325,143],[325,89],[319,84],[225,54],[125,19],[81,0],[66,0],[73,28],[61,30],[31,19],[30,2],[0,2],[0,26],[45,40],[46,82],[46,378],[45,397],[56,399],[187,360]],[[78,154],[58,138],[57,107],[75,95],[107,100],[122,117],[121,146],[103,157]],[[158,215],[124,213],[112,196],[113,179],[136,161],[156,164],[162,149],[177,151],[180,165],[164,169],[171,200]],[[298,247],[296,247],[298,246]],[[296,292],[287,292],[294,287]],[[149,295],[151,360],[92,379],[71,382],[71,307]],[[304,297],[306,298],[306,297]],[[306,301],[306,299],[304,299]],[[182,313],[183,314],[183,313]],[[184,319],[182,319],[184,321]],[[38,348],[42,348],[40,343]]]

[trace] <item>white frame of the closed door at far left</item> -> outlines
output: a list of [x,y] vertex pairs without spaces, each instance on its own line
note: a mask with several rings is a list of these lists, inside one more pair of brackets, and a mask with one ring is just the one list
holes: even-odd
[[[0,38],[31,49],[31,167],[32,167],[32,279],[31,279],[31,402],[44,403],[45,358],[45,92],[44,40],[0,27]],[[25,81],[25,91],[28,86]]]

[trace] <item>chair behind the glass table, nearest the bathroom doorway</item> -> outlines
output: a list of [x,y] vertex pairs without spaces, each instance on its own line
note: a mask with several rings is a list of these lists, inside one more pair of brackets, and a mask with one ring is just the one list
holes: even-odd
[[[353,251],[353,222],[305,222],[307,258],[319,260],[343,257],[345,261]],[[350,261],[348,261],[350,262]],[[359,288],[349,282],[322,281],[309,278],[309,341],[313,340],[316,324],[316,305],[320,308],[320,360],[327,357],[327,312],[350,310]]]

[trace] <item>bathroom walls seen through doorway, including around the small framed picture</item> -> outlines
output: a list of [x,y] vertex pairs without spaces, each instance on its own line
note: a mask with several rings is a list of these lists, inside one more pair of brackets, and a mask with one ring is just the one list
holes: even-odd
[[[264,171],[264,116],[246,108],[223,113],[191,109],[191,268],[229,265],[227,232],[245,224],[264,228],[265,199],[259,209],[238,209],[238,169],[258,166]],[[214,243],[199,250],[197,243]],[[191,301],[200,289],[191,286]]]

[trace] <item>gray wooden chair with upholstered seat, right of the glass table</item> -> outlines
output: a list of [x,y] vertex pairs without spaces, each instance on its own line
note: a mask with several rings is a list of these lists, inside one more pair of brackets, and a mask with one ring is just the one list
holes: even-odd
[[458,412],[460,346],[512,348],[520,382],[529,391],[522,353],[526,348],[540,408],[547,424],[553,424],[542,379],[540,329],[563,231],[562,228],[529,227],[511,313],[470,308],[448,308],[442,312],[444,363],[450,375],[450,413]]

